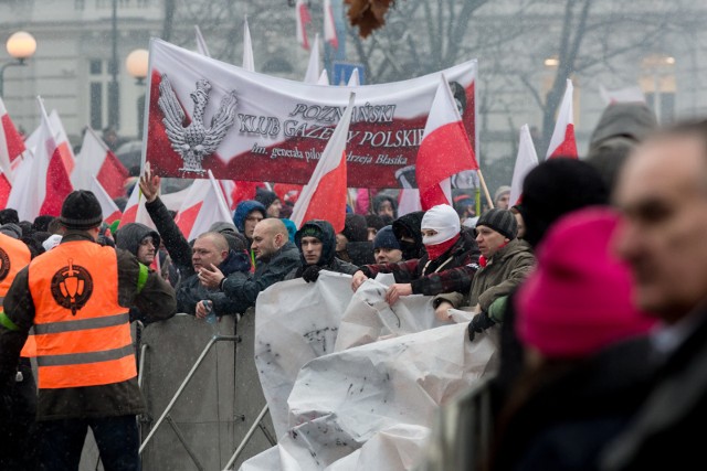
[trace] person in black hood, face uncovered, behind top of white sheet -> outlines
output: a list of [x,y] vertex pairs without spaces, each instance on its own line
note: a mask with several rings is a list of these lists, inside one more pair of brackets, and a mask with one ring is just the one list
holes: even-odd
[[295,244],[302,255],[302,267],[291,271],[286,279],[302,278],[313,282],[321,270],[347,275],[358,271],[356,265],[336,257],[336,235],[328,221],[307,221],[295,234]]

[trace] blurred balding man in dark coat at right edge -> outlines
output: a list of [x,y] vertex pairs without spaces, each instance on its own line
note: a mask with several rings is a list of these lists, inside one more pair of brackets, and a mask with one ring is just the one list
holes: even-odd
[[601,469],[701,469],[707,417],[707,121],[648,137],[631,154],[614,201],[615,238],[639,307],[661,325],[644,362],[654,383],[636,415],[604,449]]

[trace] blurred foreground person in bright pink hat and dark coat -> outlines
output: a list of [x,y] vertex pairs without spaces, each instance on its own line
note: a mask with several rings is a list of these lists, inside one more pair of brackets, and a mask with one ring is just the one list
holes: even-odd
[[610,246],[618,224],[608,207],[581,210],[540,245],[515,298],[524,370],[496,420],[489,469],[597,469],[597,450],[644,394],[648,362],[616,345],[655,322],[633,306],[629,266]]

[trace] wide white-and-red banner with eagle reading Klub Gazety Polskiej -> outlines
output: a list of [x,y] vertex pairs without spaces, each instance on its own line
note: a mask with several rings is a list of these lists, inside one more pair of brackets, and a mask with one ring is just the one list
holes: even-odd
[[[475,148],[476,61],[441,71]],[[415,186],[414,164],[439,85],[430,74],[356,87],[272,77],[150,42],[146,159],[157,174],[305,184],[344,114],[348,185]]]

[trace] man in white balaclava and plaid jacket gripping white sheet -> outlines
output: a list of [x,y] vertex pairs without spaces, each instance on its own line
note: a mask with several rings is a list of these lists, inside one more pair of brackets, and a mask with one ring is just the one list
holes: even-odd
[[456,211],[447,204],[430,208],[422,217],[421,232],[425,255],[398,264],[362,266],[354,275],[354,291],[378,274],[393,274],[395,278],[395,283],[386,295],[389,304],[401,296],[450,292],[454,290],[451,287],[464,285],[461,279],[468,286],[478,268],[478,248],[474,236],[466,229],[462,231]]

